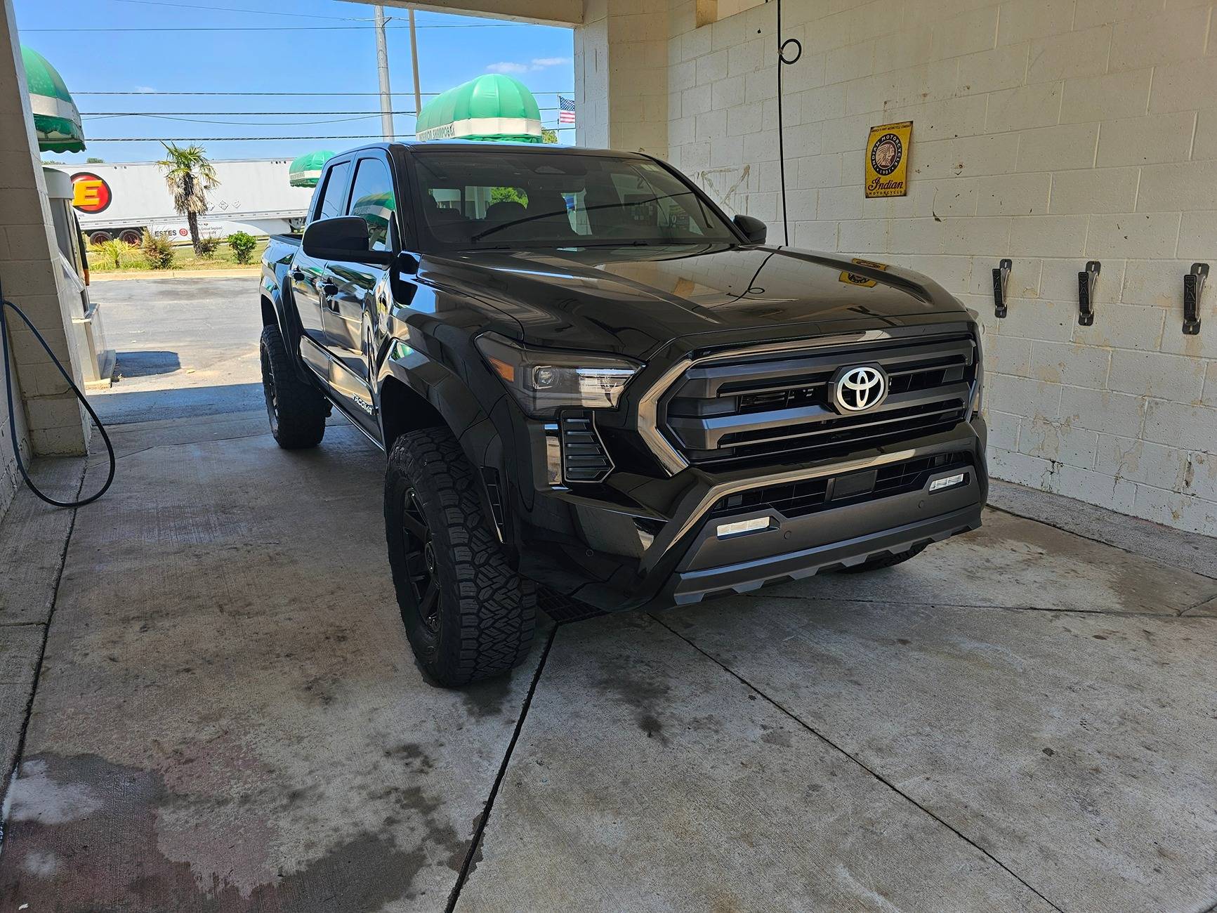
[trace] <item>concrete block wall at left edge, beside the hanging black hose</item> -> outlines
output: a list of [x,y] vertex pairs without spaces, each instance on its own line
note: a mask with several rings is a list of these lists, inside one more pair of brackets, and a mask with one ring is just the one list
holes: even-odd
[[[72,309],[79,307],[79,297],[72,295],[52,259],[58,247],[34,145],[15,22],[11,0],[5,0],[0,19],[0,280],[5,297],[29,315],[80,383],[71,332]],[[80,405],[55,365],[16,318],[10,327],[18,439],[11,439],[7,407],[0,396],[0,515],[17,486],[16,448],[28,461],[33,454],[83,454],[86,443]]]

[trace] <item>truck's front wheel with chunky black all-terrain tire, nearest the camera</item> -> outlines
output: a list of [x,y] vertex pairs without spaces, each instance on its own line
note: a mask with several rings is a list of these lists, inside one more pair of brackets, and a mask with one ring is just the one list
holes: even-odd
[[448,429],[397,439],[385,476],[385,533],[406,637],[445,688],[518,665],[537,624],[537,587],[516,573]]

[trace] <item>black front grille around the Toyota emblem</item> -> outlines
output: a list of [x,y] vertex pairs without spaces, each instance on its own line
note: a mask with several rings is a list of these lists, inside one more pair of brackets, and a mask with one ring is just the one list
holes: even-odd
[[[840,414],[830,380],[862,364],[884,368],[887,398]],[[954,427],[968,415],[975,377],[970,334],[706,360],[664,396],[662,427],[694,465],[820,459]]]

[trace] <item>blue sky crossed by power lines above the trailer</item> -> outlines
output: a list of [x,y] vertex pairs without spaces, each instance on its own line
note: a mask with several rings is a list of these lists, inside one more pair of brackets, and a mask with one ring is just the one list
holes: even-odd
[[[217,159],[295,157],[316,149],[340,151],[378,139],[378,113],[354,119],[360,112],[378,112],[380,101],[375,95],[153,94],[375,93],[376,39],[370,28],[374,15],[370,5],[342,0],[292,0],[290,4],[282,0],[219,0],[214,6],[208,0],[15,0],[15,7],[22,44],[39,51],[60,71],[84,116],[89,149],[82,153],[47,153],[44,158],[75,163],[88,156],[107,162],[162,157],[163,149],[157,142],[102,141],[107,136],[369,135],[368,140],[198,144]],[[284,15],[287,10],[290,15]],[[394,96],[394,111],[413,111],[405,11],[386,7],[386,13],[393,17],[388,29],[392,88],[400,93]],[[537,94],[542,118],[548,125],[557,119],[556,110],[545,110],[557,107],[557,99],[551,93],[573,95],[573,33],[570,29],[432,12],[417,12],[415,21],[420,27],[419,71],[425,93],[441,93],[486,72],[510,73]],[[146,30],[163,28],[174,30]],[[89,95],[89,91],[139,94]],[[424,103],[426,101],[424,96]],[[114,117],[111,112],[159,112],[161,116]],[[239,116],[229,112],[276,113]],[[414,130],[411,114],[397,114],[394,123],[399,136]],[[573,133],[560,135],[573,141]]]

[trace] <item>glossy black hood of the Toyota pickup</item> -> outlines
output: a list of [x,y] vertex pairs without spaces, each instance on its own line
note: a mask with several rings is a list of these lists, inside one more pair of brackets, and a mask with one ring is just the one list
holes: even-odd
[[786,247],[470,251],[425,257],[419,278],[510,314],[525,343],[641,359],[675,338],[713,345],[714,334],[736,342],[966,319],[918,273]]

